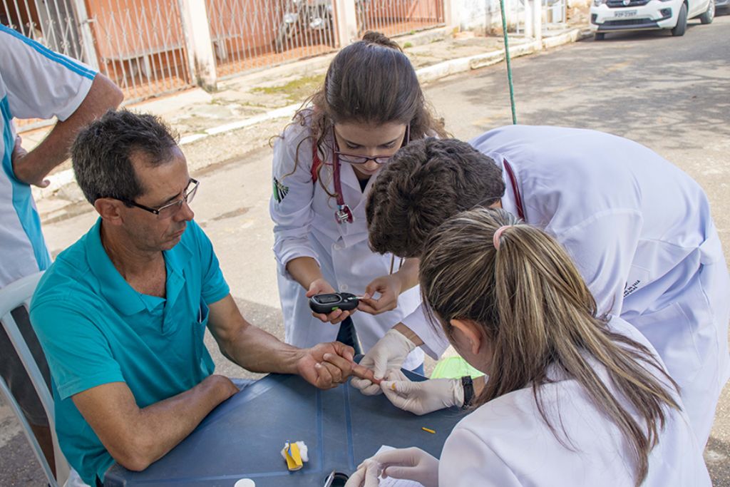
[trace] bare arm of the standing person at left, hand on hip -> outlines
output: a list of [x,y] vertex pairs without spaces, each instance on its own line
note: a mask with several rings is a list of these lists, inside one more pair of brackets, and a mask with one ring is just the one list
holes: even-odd
[[122,102],[123,94],[103,74],[96,74],[91,88],[75,112],[64,121],[58,121],[45,139],[33,150],[26,152],[16,141],[12,154],[12,169],[15,177],[29,185],[45,188],[45,179],[51,170],[66,161],[76,134],[83,126],[101,117],[107,110],[113,110]]

